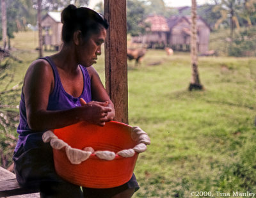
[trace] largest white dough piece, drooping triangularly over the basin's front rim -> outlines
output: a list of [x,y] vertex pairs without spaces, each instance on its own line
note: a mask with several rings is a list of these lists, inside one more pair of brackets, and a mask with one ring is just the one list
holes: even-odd
[[81,164],[84,160],[87,160],[92,152],[83,151],[81,149],[66,147],[66,155],[71,164]]

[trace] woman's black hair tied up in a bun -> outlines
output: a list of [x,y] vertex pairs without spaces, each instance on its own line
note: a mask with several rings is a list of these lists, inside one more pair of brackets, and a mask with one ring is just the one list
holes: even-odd
[[108,22],[102,15],[89,8],[76,8],[72,4],[61,12],[61,22],[63,42],[70,42],[77,30],[80,30],[84,40],[87,40],[93,33],[99,33],[100,28],[108,29]]

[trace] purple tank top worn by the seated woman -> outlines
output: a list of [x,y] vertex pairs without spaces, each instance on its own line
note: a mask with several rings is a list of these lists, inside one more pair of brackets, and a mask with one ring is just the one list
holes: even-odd
[[[87,103],[92,100],[90,75],[86,68],[79,65],[81,71],[83,72],[84,86],[81,96],[76,98],[74,96],[69,95],[63,88],[61,84],[60,75],[51,57],[43,57],[42,59],[45,59],[49,62],[54,74],[54,89],[51,95],[49,96],[47,110],[67,110],[72,109],[74,107],[79,107],[81,106],[79,98],[83,98]],[[17,151],[20,148],[20,146],[22,146],[24,149],[29,149],[44,145],[44,142],[42,142],[42,133],[44,132],[35,132],[31,130],[28,126],[23,91],[21,93],[20,123],[17,128],[17,133],[19,133],[19,140],[17,142],[15,151]]]

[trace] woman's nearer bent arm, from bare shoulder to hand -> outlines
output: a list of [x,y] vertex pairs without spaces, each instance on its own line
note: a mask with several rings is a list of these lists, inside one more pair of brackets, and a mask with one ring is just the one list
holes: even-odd
[[49,96],[54,87],[52,68],[42,59],[31,64],[24,79],[24,96],[28,125],[31,130],[49,130],[88,121],[103,126],[104,117],[112,109],[103,103],[91,102],[69,110],[47,110]]

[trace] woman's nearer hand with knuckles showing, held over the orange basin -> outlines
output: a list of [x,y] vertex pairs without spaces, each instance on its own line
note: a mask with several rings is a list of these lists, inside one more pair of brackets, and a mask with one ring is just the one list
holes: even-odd
[[89,102],[86,103],[83,98],[80,98],[80,103],[82,105],[82,109],[84,110],[81,119],[83,121],[88,121],[95,125],[104,126],[106,121],[110,121],[108,115],[109,112],[112,111],[110,107],[108,107],[107,102]]

